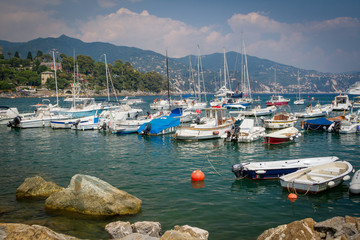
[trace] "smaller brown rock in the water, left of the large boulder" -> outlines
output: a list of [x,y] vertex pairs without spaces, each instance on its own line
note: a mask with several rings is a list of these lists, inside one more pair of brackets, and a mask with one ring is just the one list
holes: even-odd
[[16,198],[46,198],[55,192],[63,190],[53,182],[47,182],[40,176],[26,178],[24,183],[16,189]]

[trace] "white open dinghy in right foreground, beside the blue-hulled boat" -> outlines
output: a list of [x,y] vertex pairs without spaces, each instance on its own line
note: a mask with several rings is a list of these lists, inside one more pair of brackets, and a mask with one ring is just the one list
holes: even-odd
[[350,180],[353,166],[346,161],[324,163],[280,177],[283,189],[295,192],[319,193]]

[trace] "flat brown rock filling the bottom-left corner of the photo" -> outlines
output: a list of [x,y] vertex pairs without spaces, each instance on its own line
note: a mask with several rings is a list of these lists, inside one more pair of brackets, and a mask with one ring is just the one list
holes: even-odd
[[39,225],[0,223],[0,239],[76,240],[78,238],[54,232]]

